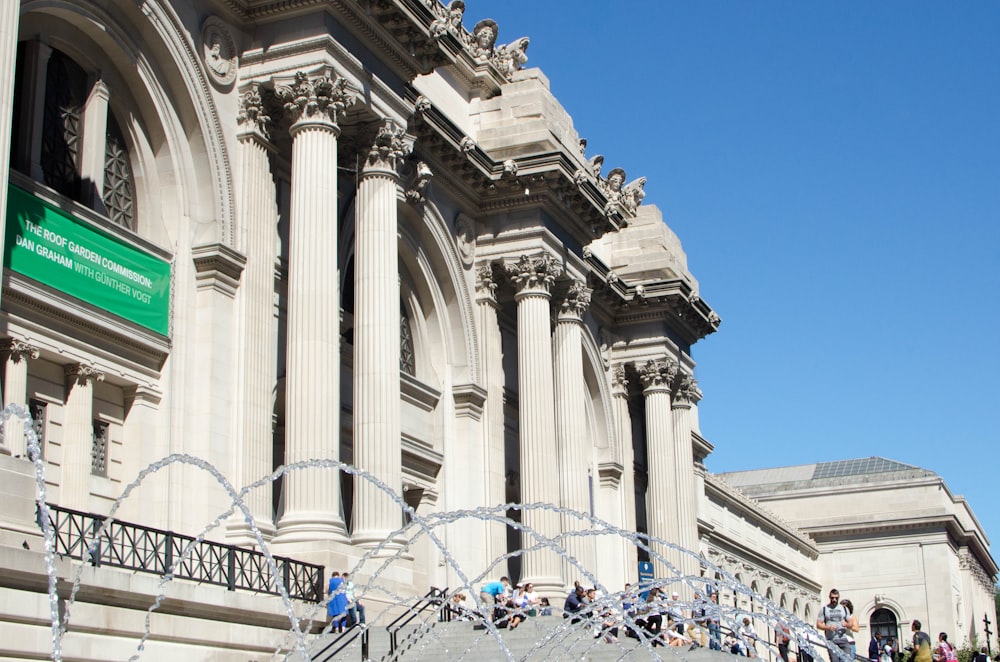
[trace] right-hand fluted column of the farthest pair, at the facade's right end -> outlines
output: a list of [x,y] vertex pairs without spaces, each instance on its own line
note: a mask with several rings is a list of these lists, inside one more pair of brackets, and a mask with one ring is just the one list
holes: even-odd
[[[691,448],[691,403],[698,391],[691,375],[681,375],[674,387],[674,505],[677,541],[693,554],[698,553],[698,496],[695,494],[694,452]],[[682,555],[678,568],[689,577],[699,576],[700,564],[694,556]],[[689,596],[690,597],[690,596]]]

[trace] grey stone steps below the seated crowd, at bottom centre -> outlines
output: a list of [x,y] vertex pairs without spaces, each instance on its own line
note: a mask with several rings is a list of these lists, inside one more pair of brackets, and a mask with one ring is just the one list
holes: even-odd
[[[488,630],[476,630],[470,622],[415,622],[397,635],[397,650],[390,656],[389,635],[384,628],[369,629],[368,656],[362,656],[358,636],[335,656],[320,654],[333,637],[325,635],[310,647],[313,662],[327,660],[688,660],[690,662],[734,662],[734,656],[705,648],[650,648],[635,639],[621,637],[608,643],[595,638],[582,624],[573,625],[558,616],[529,618],[516,630],[499,630],[499,639]],[[343,641],[343,640],[342,640]],[[342,642],[341,642],[342,643]],[[335,647],[334,647],[335,648]],[[745,658],[744,658],[745,659]]]

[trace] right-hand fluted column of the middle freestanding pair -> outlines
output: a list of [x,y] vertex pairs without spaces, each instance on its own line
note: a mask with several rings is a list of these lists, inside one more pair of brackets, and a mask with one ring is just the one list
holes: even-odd
[[[584,407],[582,327],[583,314],[590,306],[591,290],[582,281],[574,281],[559,306],[555,331],[555,414],[556,446],[559,467],[560,505],[590,514],[589,476],[591,450],[587,443],[587,410]],[[571,515],[562,516],[563,531],[593,528]],[[590,572],[597,571],[596,539],[572,537],[566,540],[567,551]],[[582,576],[569,562],[564,564],[563,580],[571,585]],[[585,582],[587,583],[587,582]]]

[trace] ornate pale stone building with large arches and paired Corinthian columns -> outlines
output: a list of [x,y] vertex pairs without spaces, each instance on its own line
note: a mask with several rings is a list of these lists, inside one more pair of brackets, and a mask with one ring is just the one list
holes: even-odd
[[[229,511],[224,484],[343,460],[421,516],[541,502],[678,542],[808,620],[843,546],[706,473],[692,346],[720,318],[643,204],[645,178],[586,153],[545,76],[523,68],[527,38],[498,41],[483,7],[465,9],[4,3],[3,398],[34,417],[47,501],[92,525],[80,518],[109,513],[151,462],[207,461],[217,475],[172,464],[117,511],[159,532],[156,556]],[[23,439],[10,422],[0,449],[0,621],[15,657],[44,651],[51,608]],[[459,571],[555,595],[579,575],[541,552],[493,566],[522,537],[469,518],[436,532],[452,562],[404,538],[383,492],[329,469],[265,481],[245,503],[206,538],[254,549],[259,533],[330,569],[390,557],[385,595],[455,587]],[[996,575],[963,512],[978,543],[955,547],[942,581],[976,596],[956,628],[984,604],[975,568]],[[547,537],[583,526],[509,514]],[[608,587],[635,579],[637,551],[618,537],[566,545]],[[65,641],[79,659],[128,657],[162,590],[134,571],[152,557],[100,554],[56,568],[61,582],[82,573]],[[172,583],[159,654],[226,659],[220,637],[232,659],[274,649],[284,607],[226,577]]]

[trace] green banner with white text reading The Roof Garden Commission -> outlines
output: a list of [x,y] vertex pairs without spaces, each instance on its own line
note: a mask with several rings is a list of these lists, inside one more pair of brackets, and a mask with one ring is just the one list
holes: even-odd
[[13,185],[7,190],[3,264],[147,329],[168,333],[169,262]]

